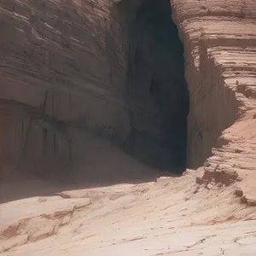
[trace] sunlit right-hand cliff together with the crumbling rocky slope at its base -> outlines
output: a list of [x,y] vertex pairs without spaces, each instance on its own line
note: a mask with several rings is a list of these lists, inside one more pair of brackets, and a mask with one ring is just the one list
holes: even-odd
[[185,49],[189,122],[201,116],[190,128],[190,156],[208,149],[197,147],[193,129],[203,131],[204,143],[221,131],[197,183],[239,181],[236,195],[255,206],[256,4],[174,0],[172,9]]

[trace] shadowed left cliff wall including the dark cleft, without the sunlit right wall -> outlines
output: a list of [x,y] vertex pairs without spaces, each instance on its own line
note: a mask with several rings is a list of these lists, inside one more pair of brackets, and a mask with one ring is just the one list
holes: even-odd
[[148,164],[184,169],[189,95],[169,3],[0,8],[4,159],[20,169],[63,169],[73,152],[67,127],[76,125]]

